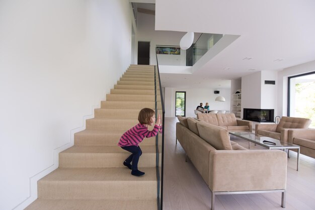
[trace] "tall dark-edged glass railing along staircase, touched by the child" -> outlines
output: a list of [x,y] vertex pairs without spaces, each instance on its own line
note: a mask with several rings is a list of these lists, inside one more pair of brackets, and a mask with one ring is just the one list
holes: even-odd
[[164,164],[164,119],[165,109],[162,95],[159,65],[154,66],[155,119],[161,115],[162,133],[156,136],[156,179],[157,179],[157,209],[163,208],[163,164]]

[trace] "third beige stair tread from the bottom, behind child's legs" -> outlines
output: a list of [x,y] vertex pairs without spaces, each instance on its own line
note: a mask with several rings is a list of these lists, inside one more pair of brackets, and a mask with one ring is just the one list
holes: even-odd
[[[117,139],[117,144],[119,139]],[[143,153],[155,153],[155,145],[141,145],[141,150]],[[128,153],[128,151],[121,149],[118,145],[109,146],[94,146],[94,145],[74,145],[62,152],[65,153]]]

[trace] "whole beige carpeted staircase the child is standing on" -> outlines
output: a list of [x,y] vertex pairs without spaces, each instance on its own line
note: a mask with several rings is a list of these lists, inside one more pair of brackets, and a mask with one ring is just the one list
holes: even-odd
[[141,177],[122,164],[130,153],[117,146],[142,108],[155,109],[154,101],[154,66],[131,65],[86,130],[74,134],[74,146],[59,153],[59,168],[38,181],[38,199],[26,209],[157,209],[155,137],[140,144]]

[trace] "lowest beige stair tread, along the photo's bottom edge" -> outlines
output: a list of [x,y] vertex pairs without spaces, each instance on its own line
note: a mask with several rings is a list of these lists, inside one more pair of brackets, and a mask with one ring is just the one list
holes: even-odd
[[112,209],[157,209],[156,199],[147,200],[104,200],[104,199],[36,199],[25,210],[112,210]]

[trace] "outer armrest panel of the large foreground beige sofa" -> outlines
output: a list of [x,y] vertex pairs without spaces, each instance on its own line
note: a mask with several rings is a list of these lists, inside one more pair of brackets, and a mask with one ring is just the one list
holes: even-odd
[[287,157],[281,150],[210,152],[212,192],[286,189]]

